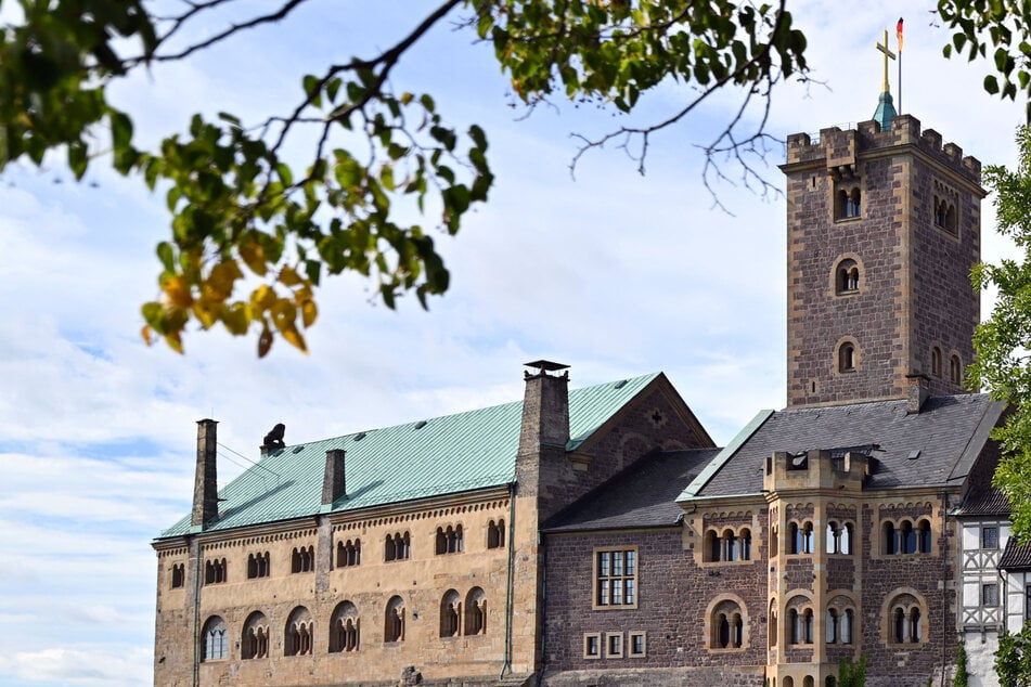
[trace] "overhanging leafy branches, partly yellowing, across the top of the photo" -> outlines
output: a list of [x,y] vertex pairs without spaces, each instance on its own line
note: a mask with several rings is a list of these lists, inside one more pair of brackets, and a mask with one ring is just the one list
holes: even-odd
[[[740,109],[705,148],[707,185],[723,174],[717,163],[730,158],[746,183],[769,187],[749,160],[770,139],[770,94],[786,78],[808,78],[806,38],[787,0],[438,0],[424,18],[398,27],[383,52],[298,75],[297,101],[280,114],[259,121],[195,115],[154,150],[138,147],[131,113],[108,101],[108,86],[288,21],[306,2],[279,0],[268,11],[239,0],[2,4],[15,18],[0,27],[0,172],[18,159],[40,165],[56,151],[78,179],[108,164],[165,194],[170,232],[157,246],[162,296],[143,306],[149,341],[163,338],[181,351],[189,324],[221,323],[235,335],[257,332],[259,355],[276,335],[304,350],[325,275],[364,274],[390,308],[405,293],[426,307],[448,288],[431,230],[456,233],[465,213],[487,202],[487,137],[477,126],[459,131],[431,94],[397,92],[390,81],[411,47],[443,24],[489,43],[528,107],[568,99],[629,113],[663,81],[690,87],[658,121],[580,139],[575,161],[618,142],[643,171],[652,134],[737,88]],[[1028,86],[1024,62],[1000,57],[1028,52],[1019,10],[1031,11],[1016,0],[938,2],[956,50],[969,47],[977,57],[994,47],[1003,82],[985,88],[1007,98]],[[746,116],[751,105],[758,124]],[[309,138],[317,143],[307,159],[287,159],[292,142]],[[422,219],[410,221],[409,209]]]

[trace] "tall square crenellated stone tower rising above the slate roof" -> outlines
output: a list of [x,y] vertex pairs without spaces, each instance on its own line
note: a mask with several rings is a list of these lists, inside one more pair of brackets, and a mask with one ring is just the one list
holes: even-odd
[[781,169],[788,406],[963,392],[980,317],[980,163],[898,115],[890,130],[794,134]]

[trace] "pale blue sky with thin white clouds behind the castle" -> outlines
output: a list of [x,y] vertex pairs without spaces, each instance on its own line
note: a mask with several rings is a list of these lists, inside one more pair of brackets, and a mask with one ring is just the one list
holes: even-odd
[[[902,112],[984,164],[1015,163],[1022,106],[983,93],[984,65],[941,56],[933,4],[905,3]],[[292,107],[302,75],[390,46],[429,7],[309,0],[111,98],[142,144],[195,112],[256,121]],[[874,43],[893,34],[899,3],[789,7],[822,83],[778,88],[770,131],[869,119]],[[891,74],[894,89],[894,64]],[[460,129],[482,126],[495,184],[456,237],[435,235],[452,276],[444,297],[390,311],[359,277],[325,281],[308,355],[280,341],[258,360],[254,337],[221,330],[190,333],[185,355],[147,348],[140,306],[158,293],[164,199],[102,159],[78,184],[59,158],[0,176],[0,686],[152,682],[150,543],[190,509],[197,419],[219,420],[225,483],[276,423],[300,443],[517,400],[523,364],[538,359],[570,365],[574,387],[665,372],[721,445],[760,409],[783,407],[784,199],[729,181],[717,186],[725,212],[700,178],[696,146],[735,94],[660,132],[646,174],[610,146],[574,178],[571,133],[655,120],[688,87],[663,85],[634,119],[565,104],[527,116],[510,106],[490,48],[451,26],[416,44],[391,81],[433,93]],[[783,158],[774,145],[757,160],[781,189]],[[990,200],[982,216],[982,257],[1011,254]],[[990,307],[985,295],[982,316]]]

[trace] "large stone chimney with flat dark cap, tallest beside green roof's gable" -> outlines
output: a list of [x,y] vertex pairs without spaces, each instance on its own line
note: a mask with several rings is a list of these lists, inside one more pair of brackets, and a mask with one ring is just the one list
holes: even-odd
[[569,373],[562,365],[546,360],[526,363],[537,370],[524,373],[526,393],[523,398],[523,426],[519,430],[519,453],[538,454],[542,446],[562,448],[569,441]]

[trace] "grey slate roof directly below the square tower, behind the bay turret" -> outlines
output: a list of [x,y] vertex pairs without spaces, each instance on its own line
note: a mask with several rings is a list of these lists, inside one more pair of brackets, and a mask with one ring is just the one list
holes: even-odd
[[987,394],[932,397],[914,414],[906,407],[900,400],[764,411],[680,501],[759,493],[763,462],[776,451],[864,445],[875,446],[876,459],[866,489],[959,484],[1003,412]]

